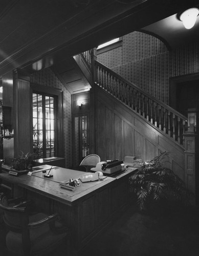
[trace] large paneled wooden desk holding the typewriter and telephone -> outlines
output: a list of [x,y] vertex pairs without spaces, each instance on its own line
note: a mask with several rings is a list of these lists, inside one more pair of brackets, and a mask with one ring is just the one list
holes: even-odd
[[[51,166],[39,167],[50,169]],[[133,170],[135,168],[128,168],[117,178],[80,182],[75,191],[60,188],[59,182],[79,178],[83,172],[61,167],[51,170],[52,178],[43,178],[42,172],[18,177],[5,173],[0,174],[0,178],[14,184],[15,196],[25,195],[33,199],[42,210],[58,212],[71,229],[72,251],[77,255],[127,204],[128,177]]]

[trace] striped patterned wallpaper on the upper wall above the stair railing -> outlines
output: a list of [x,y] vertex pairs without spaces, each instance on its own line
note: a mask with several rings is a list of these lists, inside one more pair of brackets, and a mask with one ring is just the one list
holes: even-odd
[[99,54],[98,61],[167,104],[169,78],[199,71],[197,44],[168,51],[161,40],[138,31],[122,40],[122,47]]

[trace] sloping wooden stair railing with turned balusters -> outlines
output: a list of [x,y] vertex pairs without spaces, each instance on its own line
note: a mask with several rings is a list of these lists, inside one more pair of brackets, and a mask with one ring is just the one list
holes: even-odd
[[188,128],[186,116],[147,94],[97,60],[95,60],[95,70],[95,82],[98,86],[122,101],[176,142],[184,145],[184,134]]

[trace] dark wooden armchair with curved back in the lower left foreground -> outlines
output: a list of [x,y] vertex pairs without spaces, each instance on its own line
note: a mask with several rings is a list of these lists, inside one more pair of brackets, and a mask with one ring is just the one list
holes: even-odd
[[69,253],[69,230],[60,221],[58,214],[48,216],[39,212],[30,215],[29,202],[12,207],[4,193],[0,193],[0,209],[8,228],[6,246],[10,255],[52,255],[61,245],[65,255]]

